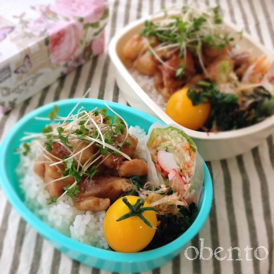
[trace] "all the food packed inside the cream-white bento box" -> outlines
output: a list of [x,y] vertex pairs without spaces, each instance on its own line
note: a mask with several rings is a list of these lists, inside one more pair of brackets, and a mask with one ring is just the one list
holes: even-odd
[[241,50],[219,7],[166,10],[163,19],[145,21],[123,55],[137,83],[186,128],[235,130],[274,113],[274,63]]

